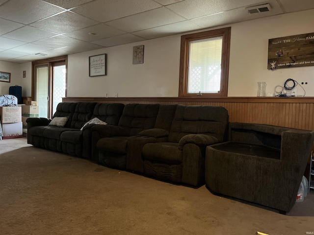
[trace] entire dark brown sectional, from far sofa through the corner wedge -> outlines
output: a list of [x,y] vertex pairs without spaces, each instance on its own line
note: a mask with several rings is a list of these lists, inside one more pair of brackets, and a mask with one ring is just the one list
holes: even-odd
[[[28,118],[27,142],[175,184],[289,211],[314,141],[310,131],[229,123],[223,107],[59,103]],[[107,125],[83,125],[99,118]],[[82,128],[83,127],[83,128]],[[82,130],[80,130],[82,128]]]

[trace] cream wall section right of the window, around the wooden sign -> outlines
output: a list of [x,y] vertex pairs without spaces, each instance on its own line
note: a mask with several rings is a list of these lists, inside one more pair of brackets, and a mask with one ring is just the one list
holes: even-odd
[[306,96],[314,96],[314,66],[267,70],[268,39],[313,33],[313,21],[314,9],[232,24],[228,96],[257,96],[257,82],[266,82],[266,94],[273,94],[288,78],[308,82],[302,85]]

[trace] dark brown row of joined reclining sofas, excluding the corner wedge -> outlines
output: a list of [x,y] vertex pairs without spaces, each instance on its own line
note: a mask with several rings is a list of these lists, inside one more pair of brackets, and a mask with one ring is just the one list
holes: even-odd
[[[27,142],[173,183],[204,184],[205,148],[226,141],[228,112],[215,106],[59,103],[51,119],[28,118]],[[92,118],[108,125],[87,125]],[[145,149],[145,151],[143,151]]]

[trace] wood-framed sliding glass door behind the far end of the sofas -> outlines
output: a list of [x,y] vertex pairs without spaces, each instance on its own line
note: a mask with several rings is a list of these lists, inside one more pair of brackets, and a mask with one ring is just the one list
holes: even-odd
[[39,117],[52,118],[66,96],[66,59],[40,62],[33,62],[32,96],[39,106]]

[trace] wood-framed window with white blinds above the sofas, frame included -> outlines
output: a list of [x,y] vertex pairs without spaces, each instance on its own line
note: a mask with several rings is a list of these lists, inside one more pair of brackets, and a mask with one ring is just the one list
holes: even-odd
[[231,27],[181,36],[180,97],[228,96]]

